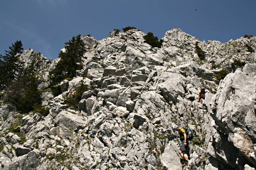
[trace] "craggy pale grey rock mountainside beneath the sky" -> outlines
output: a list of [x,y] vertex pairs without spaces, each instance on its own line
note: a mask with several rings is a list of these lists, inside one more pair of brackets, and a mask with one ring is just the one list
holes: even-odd
[[[256,49],[256,37],[202,42],[172,29],[161,48],[152,48],[144,35],[132,29],[101,41],[83,36],[84,68],[60,83],[62,94],[56,97],[47,90],[47,78],[58,59],[25,50],[22,61],[38,61],[38,88],[50,111],[21,115],[0,106],[0,168],[182,169],[180,141],[172,130],[180,123],[195,133],[184,169],[254,169],[256,53],[247,47]],[[244,66],[232,67],[235,61]],[[219,82],[223,69],[231,73]],[[91,90],[76,109],[64,98],[81,80]],[[202,86],[207,93],[199,103]],[[24,138],[12,133],[13,127]]]

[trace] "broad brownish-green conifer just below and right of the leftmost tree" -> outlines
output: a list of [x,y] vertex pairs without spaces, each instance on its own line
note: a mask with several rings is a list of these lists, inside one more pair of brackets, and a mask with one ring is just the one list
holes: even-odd
[[34,68],[35,61],[5,88],[4,102],[14,105],[21,113],[28,113],[34,109],[35,104],[41,103]]

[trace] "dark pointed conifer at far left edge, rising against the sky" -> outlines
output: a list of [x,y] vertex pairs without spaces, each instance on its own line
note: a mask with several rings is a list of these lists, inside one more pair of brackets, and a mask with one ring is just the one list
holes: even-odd
[[20,53],[23,50],[21,41],[16,41],[9,49],[10,51],[5,50],[5,55],[0,55],[1,89],[17,76],[23,66],[23,63],[19,61]]

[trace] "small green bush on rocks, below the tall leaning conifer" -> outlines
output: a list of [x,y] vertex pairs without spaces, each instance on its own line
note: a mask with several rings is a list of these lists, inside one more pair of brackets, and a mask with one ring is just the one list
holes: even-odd
[[90,86],[84,84],[84,82],[81,80],[81,85],[75,89],[74,93],[65,98],[65,104],[77,108],[82,94],[88,90],[90,90]]

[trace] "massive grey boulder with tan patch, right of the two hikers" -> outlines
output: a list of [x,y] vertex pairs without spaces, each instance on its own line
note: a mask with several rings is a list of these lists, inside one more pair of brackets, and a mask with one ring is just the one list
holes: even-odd
[[[216,125],[228,136],[227,139],[231,146],[234,145],[240,152],[239,155],[254,166],[256,166],[253,156],[253,143],[256,142],[255,103],[255,80],[240,70],[236,70],[235,73],[228,74],[220,82],[217,94],[212,98],[210,108]],[[225,137],[220,134],[220,138],[224,140]],[[222,147],[224,151],[225,142],[223,142]],[[232,151],[234,150],[232,149]],[[233,156],[238,156],[238,153],[234,154]],[[241,165],[238,164],[238,166]]]

